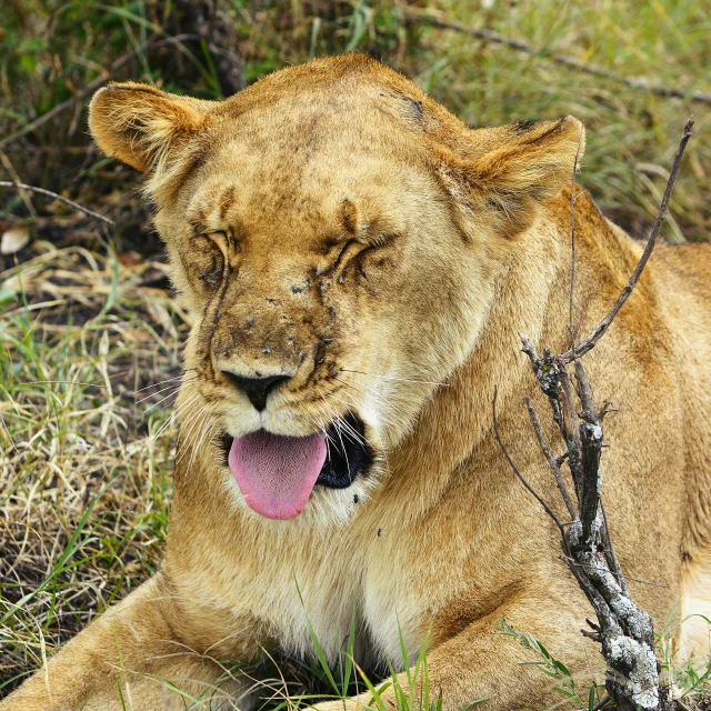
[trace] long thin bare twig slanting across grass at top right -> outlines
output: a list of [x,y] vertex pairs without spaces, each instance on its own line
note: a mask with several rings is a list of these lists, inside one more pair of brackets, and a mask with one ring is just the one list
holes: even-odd
[[582,62],[579,59],[568,57],[567,54],[550,53],[548,52],[548,50],[534,47],[530,42],[527,42],[524,40],[517,40],[512,37],[507,37],[505,34],[500,34],[499,32],[494,32],[493,30],[464,27],[459,22],[441,20],[432,16],[413,12],[412,10],[405,10],[404,17],[411,21],[427,22],[432,27],[437,27],[443,30],[464,32],[465,34],[471,34],[472,37],[475,37],[480,40],[495,42],[498,44],[505,44],[507,47],[511,47],[512,49],[528,52],[529,54],[535,54],[537,57],[541,57],[543,59],[549,59],[557,64],[571,67],[572,69],[577,69],[578,71],[582,71],[587,74],[592,74],[593,77],[602,77],[603,79],[610,79],[611,81],[619,81],[627,84],[628,87],[632,87],[633,89],[642,89],[644,91],[649,91],[650,93],[653,93],[658,97],[675,97],[678,99],[688,99],[691,101],[699,101],[701,103],[711,103],[711,93],[705,93],[703,91],[689,91],[685,89],[672,89],[671,87],[660,87],[658,84],[652,84],[649,80],[641,77],[625,77],[623,74],[618,74],[617,72],[610,71],[609,69],[603,69],[602,67],[598,67],[595,64]]

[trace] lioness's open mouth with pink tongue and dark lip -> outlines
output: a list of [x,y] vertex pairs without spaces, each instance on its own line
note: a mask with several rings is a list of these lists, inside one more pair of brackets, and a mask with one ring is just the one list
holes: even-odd
[[223,438],[227,465],[257,513],[292,519],[306,507],[318,484],[350,487],[372,460],[360,418],[349,412],[326,432],[283,437],[266,430],[243,438]]

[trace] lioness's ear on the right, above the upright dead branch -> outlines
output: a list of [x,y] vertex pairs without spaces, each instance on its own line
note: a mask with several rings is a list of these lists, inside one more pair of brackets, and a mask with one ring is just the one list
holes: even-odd
[[582,123],[568,116],[483,129],[481,144],[484,152],[471,160],[448,151],[440,178],[467,212],[492,220],[512,237],[531,224],[541,202],[570,184],[585,139]]

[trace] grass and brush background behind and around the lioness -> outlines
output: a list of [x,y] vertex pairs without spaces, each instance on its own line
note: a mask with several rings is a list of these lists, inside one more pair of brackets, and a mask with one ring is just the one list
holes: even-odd
[[[3,2],[0,180],[61,193],[116,227],[0,192],[0,697],[142,582],[166,534],[172,379],[189,323],[140,178],[89,140],[91,90],[130,78],[221,99],[289,63],[351,50],[395,67],[472,126],[584,119],[581,182],[634,236],[657,214],[694,113],[665,236],[709,239],[711,103],[554,60],[709,94],[709,0]],[[308,672],[291,671],[310,688]]]

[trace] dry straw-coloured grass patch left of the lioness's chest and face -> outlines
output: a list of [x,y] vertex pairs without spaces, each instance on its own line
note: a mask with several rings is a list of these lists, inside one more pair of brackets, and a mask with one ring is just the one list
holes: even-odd
[[0,274],[17,293],[0,326],[0,688],[154,570],[176,390],[157,383],[187,328],[146,286],[162,263],[33,249]]

